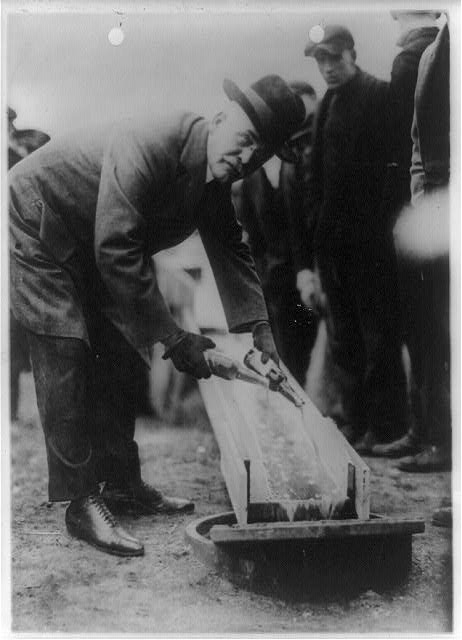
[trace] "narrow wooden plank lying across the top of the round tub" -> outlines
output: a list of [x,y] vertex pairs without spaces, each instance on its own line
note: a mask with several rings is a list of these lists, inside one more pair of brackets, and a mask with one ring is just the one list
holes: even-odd
[[361,520],[321,520],[315,522],[271,522],[215,525],[210,538],[216,544],[242,544],[281,540],[320,540],[352,536],[391,536],[422,533],[423,518],[377,518]]

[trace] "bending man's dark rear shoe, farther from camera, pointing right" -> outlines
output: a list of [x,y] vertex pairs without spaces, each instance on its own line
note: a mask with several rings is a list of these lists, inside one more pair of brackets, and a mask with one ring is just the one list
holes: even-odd
[[143,481],[124,487],[107,483],[102,496],[116,513],[130,511],[152,515],[155,513],[192,513],[194,511],[194,502],[163,496],[160,491]]

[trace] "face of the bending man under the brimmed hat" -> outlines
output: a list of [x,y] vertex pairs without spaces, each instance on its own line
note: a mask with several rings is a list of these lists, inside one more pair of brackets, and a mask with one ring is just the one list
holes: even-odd
[[207,161],[218,182],[244,178],[271,155],[251,120],[235,102],[213,119],[207,142]]

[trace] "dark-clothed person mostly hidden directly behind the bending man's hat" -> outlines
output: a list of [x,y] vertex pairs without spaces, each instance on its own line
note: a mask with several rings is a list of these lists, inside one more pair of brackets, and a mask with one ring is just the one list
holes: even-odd
[[235,183],[233,200],[262,282],[278,353],[303,385],[316,321],[313,311],[300,301],[296,274],[308,259],[303,251],[307,233],[303,201],[317,100],[310,84],[291,82],[289,86],[302,98],[306,109],[303,127],[287,143],[293,161],[282,160],[275,178],[265,165]]

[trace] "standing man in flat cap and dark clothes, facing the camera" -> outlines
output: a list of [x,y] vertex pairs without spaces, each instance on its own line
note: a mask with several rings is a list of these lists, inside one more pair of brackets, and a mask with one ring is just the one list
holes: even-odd
[[357,66],[346,27],[310,34],[305,55],[315,58],[327,91],[315,124],[306,202],[306,253],[314,260],[305,273],[310,282],[315,266],[319,272],[333,361],[355,389],[345,435],[369,453],[401,436],[408,421],[392,223],[381,209],[388,85]]

